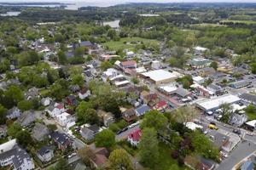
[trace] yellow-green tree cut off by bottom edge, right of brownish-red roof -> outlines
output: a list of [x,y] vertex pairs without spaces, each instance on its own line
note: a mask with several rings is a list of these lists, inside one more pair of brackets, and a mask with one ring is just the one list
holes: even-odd
[[132,163],[129,155],[123,149],[113,150],[108,158],[108,169],[132,170]]

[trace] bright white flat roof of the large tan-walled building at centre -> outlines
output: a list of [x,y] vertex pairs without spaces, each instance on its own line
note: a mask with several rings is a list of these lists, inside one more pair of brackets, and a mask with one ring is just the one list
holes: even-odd
[[162,80],[176,78],[178,77],[178,73],[164,71],[164,70],[155,70],[155,71],[148,71],[142,73],[144,77],[149,77],[150,79],[154,80],[154,82],[159,82]]

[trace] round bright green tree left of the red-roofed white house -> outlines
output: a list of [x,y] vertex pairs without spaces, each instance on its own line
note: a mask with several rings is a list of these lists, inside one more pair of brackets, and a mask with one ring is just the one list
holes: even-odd
[[108,129],[96,134],[96,146],[105,147],[108,150],[115,144],[115,134]]

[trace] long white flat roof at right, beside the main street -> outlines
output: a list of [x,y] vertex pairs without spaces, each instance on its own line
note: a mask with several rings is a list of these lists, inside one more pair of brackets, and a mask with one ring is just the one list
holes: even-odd
[[217,98],[207,99],[203,101],[196,102],[196,105],[199,105],[201,109],[208,111],[212,110],[214,108],[218,108],[219,105],[222,105],[224,103],[232,104],[235,102],[240,101],[241,99],[237,97],[236,95],[232,94],[225,94],[222,96],[219,96]]

